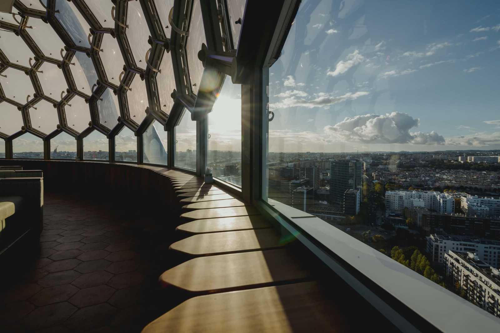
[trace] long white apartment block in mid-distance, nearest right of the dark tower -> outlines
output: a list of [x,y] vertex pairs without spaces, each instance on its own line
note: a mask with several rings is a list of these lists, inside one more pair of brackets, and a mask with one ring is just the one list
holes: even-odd
[[455,210],[454,194],[435,191],[395,190],[385,192],[386,212],[402,213],[404,208],[425,207],[439,213]]

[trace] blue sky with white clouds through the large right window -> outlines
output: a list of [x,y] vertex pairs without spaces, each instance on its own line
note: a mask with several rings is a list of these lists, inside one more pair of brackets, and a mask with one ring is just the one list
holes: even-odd
[[270,151],[500,148],[500,3],[302,2],[269,70]]

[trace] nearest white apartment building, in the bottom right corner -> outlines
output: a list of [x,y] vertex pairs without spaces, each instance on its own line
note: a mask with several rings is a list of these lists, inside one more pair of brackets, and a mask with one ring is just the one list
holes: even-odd
[[500,317],[500,274],[474,253],[448,250],[444,254],[446,276],[459,282],[467,299],[494,316]]

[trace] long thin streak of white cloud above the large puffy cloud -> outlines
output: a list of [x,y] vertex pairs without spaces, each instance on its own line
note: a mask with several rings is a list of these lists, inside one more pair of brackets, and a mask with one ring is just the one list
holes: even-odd
[[320,93],[316,96],[316,98],[313,99],[297,98],[295,95],[292,95],[290,97],[286,97],[280,100],[277,103],[270,103],[269,109],[274,110],[279,108],[288,108],[295,106],[302,106],[307,108],[323,107],[343,102],[346,100],[357,99],[361,96],[367,95],[368,93],[369,92],[366,91],[357,91],[354,93],[347,92],[341,96],[332,96],[325,93]]

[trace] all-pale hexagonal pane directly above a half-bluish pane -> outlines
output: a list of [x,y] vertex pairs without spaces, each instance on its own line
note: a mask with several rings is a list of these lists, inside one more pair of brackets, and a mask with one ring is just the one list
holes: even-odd
[[124,61],[121,56],[118,41],[109,33],[104,33],[102,35],[100,48],[102,48],[103,51],[99,52],[99,57],[102,65],[104,66],[107,80],[113,84],[119,85],[119,76],[123,70]]

